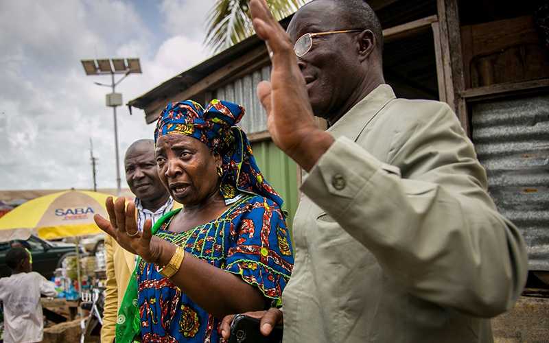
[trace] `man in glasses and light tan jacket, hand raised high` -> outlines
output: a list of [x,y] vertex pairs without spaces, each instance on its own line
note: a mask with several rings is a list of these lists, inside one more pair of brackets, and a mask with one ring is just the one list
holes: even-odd
[[263,0],[250,9],[272,49],[257,87],[269,132],[307,171],[283,309],[254,314],[261,331],[283,317],[285,343],[493,342],[488,318],[522,292],[526,248],[456,115],[395,97],[364,1],[311,1],[288,32]]

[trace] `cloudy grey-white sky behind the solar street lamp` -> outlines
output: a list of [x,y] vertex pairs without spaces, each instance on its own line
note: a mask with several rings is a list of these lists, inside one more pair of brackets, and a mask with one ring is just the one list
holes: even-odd
[[[85,58],[139,57],[143,74],[117,87],[124,104],[202,60],[214,0],[0,1],[0,190],[116,187],[109,89],[86,76]],[[118,108],[121,158],[152,138],[143,111]],[[121,165],[122,187],[126,187]]]

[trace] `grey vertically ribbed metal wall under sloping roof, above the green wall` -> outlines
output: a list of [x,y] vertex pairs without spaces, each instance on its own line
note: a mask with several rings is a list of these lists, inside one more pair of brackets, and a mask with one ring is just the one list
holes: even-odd
[[240,121],[240,127],[246,133],[267,130],[266,113],[255,93],[257,84],[263,80],[270,80],[270,65],[213,91],[214,98],[234,102],[246,108],[246,115]]

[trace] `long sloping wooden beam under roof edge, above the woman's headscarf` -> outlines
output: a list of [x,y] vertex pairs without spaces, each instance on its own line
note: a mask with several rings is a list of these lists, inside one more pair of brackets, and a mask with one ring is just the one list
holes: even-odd
[[203,78],[199,82],[196,82],[196,84],[185,88],[183,91],[175,94],[165,95],[165,97],[163,97],[162,99],[156,99],[154,102],[151,102],[148,106],[144,108],[147,123],[152,123],[152,121],[154,121],[158,117],[158,114],[168,102],[177,102],[182,99],[189,99],[197,93],[214,88],[215,85],[219,82],[225,81],[224,79],[231,77],[235,73],[238,73],[240,70],[246,68],[249,64],[253,64],[257,60],[264,58],[266,54],[267,50],[265,48],[265,45],[260,45],[259,47],[250,51],[248,54],[242,56],[242,58],[237,58],[231,61],[229,64],[226,64],[224,67],[207,75],[205,78]]

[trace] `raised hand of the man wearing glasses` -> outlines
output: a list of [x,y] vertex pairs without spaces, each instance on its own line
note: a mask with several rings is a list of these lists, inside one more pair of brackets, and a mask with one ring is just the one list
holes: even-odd
[[274,19],[265,0],[251,0],[250,10],[257,36],[272,51],[270,82],[257,86],[257,96],[267,112],[268,130],[272,141],[308,171],[334,139],[316,126],[290,36]]

